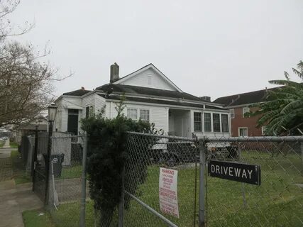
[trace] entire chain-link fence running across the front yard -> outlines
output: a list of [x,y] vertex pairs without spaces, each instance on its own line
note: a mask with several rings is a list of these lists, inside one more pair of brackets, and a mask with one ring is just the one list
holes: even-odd
[[[127,138],[125,193],[111,226],[303,226],[303,136],[198,140],[128,132]],[[35,162],[35,193],[47,199],[54,222],[62,227],[103,226],[89,199],[85,137],[54,133],[51,143],[48,139],[47,133],[39,133],[35,141],[23,139],[24,163]],[[212,161],[258,166],[260,185],[214,177],[209,172]],[[224,165],[221,174],[230,171]],[[165,191],[176,197],[167,204],[160,170],[177,173],[176,188]],[[241,173],[248,177],[248,172]]]

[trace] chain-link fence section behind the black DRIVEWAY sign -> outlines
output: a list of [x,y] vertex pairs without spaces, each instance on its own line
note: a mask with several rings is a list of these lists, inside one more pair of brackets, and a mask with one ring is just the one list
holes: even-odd
[[[206,161],[260,166],[261,184],[206,175],[207,226],[303,226],[303,138],[206,139]],[[210,172],[216,172],[215,169]],[[234,175],[229,169],[218,171]],[[240,172],[243,179],[248,172]]]

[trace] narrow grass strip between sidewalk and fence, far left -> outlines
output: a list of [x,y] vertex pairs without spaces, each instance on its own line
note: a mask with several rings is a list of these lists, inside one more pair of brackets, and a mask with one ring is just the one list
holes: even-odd
[[18,153],[18,150],[11,151],[11,163],[13,167],[13,179],[16,184],[31,182],[31,176],[26,175],[21,154]]

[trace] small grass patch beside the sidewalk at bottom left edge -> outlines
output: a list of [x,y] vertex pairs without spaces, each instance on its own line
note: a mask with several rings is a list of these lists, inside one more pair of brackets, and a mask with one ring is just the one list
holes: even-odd
[[25,227],[55,227],[55,224],[50,218],[50,214],[41,209],[33,211],[24,211],[22,213],[22,216]]

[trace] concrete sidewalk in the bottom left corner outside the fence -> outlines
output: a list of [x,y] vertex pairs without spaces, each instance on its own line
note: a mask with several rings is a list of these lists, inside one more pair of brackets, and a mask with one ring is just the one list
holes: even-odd
[[0,182],[0,227],[23,227],[22,212],[43,207],[31,186],[15,185],[13,179]]

